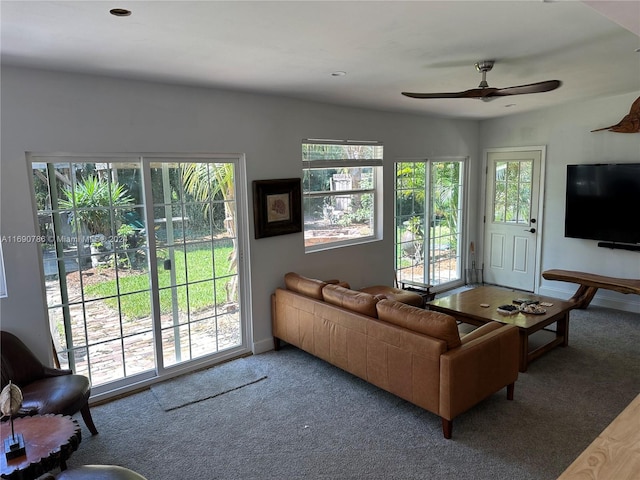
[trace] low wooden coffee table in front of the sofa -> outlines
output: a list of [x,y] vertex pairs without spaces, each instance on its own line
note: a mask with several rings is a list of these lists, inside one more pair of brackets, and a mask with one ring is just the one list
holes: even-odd
[[[500,305],[513,305],[516,298],[527,298],[540,302],[552,303],[543,307],[543,315],[525,314],[503,315],[497,311]],[[488,307],[481,306],[488,304]],[[552,348],[569,344],[569,312],[575,305],[557,298],[542,297],[532,293],[513,291],[499,287],[478,287],[472,290],[455,293],[448,297],[438,298],[426,306],[429,310],[447,313],[456,320],[472,325],[484,325],[491,321],[515,325],[520,331],[520,371],[526,372],[529,362],[548,352]],[[555,337],[548,343],[529,350],[531,334],[556,324]]]

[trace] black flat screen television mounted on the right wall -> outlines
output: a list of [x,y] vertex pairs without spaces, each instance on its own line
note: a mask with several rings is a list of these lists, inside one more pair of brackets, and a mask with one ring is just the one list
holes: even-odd
[[640,243],[640,163],[567,165],[564,235]]

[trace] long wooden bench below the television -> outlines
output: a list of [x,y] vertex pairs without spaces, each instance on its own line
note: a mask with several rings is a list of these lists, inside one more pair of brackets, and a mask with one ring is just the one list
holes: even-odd
[[569,299],[569,302],[575,303],[574,308],[587,308],[598,288],[640,295],[640,279],[605,277],[570,270],[546,270],[542,272],[542,276],[546,280],[580,284],[576,293]]

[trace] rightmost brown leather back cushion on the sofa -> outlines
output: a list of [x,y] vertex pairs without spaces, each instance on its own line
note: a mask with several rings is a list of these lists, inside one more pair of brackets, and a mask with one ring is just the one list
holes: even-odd
[[444,340],[448,349],[462,344],[458,324],[451,315],[386,299],[379,301],[376,308],[380,320]]

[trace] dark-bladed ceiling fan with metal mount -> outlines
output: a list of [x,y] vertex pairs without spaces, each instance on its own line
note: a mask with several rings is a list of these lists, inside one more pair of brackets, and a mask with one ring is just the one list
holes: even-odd
[[402,94],[411,98],[480,98],[483,101],[488,102],[495,97],[505,97],[507,95],[549,92],[562,85],[560,80],[547,80],[546,82],[518,85],[517,87],[492,88],[489,87],[489,84],[487,83],[487,72],[491,71],[493,64],[493,60],[483,60],[482,62],[476,63],[476,70],[482,73],[482,81],[480,82],[480,85],[478,85],[478,88],[452,93],[402,92]]

